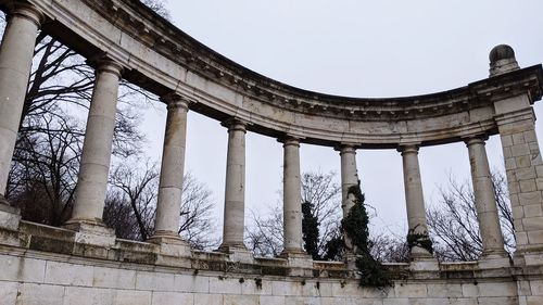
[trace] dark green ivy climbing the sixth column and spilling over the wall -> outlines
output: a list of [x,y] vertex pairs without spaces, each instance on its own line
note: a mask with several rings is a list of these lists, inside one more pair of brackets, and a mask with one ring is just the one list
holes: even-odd
[[369,253],[369,217],[364,205],[364,194],[357,186],[349,188],[349,195],[354,196],[354,205],[346,217],[341,221],[344,234],[352,243],[352,251],[356,256],[355,265],[361,275],[361,287],[386,288],[392,285],[384,267]]

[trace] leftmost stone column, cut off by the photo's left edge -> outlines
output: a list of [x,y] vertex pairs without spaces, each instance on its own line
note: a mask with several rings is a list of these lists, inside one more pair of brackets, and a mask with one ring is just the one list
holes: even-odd
[[4,192],[42,21],[34,7],[15,4],[0,47],[0,227],[12,230],[18,228],[21,216],[5,201]]

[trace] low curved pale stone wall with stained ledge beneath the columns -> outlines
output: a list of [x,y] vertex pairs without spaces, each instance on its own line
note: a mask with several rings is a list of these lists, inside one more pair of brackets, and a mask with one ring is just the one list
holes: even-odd
[[[417,270],[389,265],[394,285],[358,287],[342,263],[285,259],[236,263],[225,254],[193,252],[161,259],[156,246],[117,240],[112,247],[73,241],[59,228],[23,223],[0,230],[0,300],[23,304],[541,304],[543,272],[441,264]],[[47,251],[46,251],[47,250]],[[184,263],[185,262],[185,263]]]

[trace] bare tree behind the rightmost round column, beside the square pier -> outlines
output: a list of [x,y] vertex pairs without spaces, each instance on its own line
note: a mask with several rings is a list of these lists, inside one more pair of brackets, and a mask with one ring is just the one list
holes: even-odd
[[[479,221],[471,183],[458,183],[450,176],[447,188],[441,189],[441,201],[427,213],[434,251],[442,260],[476,260],[482,253]],[[492,174],[494,196],[498,207],[505,250],[515,250],[515,227],[503,174]]]

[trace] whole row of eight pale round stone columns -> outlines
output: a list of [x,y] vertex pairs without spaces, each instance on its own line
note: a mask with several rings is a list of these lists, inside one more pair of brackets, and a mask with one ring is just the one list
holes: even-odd
[[[17,128],[24,104],[28,75],[33,62],[36,33],[42,22],[40,12],[29,5],[17,5],[8,20],[0,48],[0,198],[7,187]],[[71,228],[103,227],[104,207],[119,79],[123,65],[108,58],[94,62],[96,84],[88,114],[85,143]],[[187,112],[189,100],[176,93],[162,98],[167,104],[167,120],[162,169],[156,206],[155,234],[151,241],[165,243],[179,241],[179,213],[181,204],[185,163]],[[247,251],[243,243],[245,134],[247,122],[232,117],[223,123],[228,129],[226,162],[225,214],[223,244],[227,252]],[[285,253],[303,254],[300,139],[285,135],[283,143],[283,226]],[[471,177],[476,198],[483,255],[505,256],[500,229],[498,212],[494,200],[491,173],[484,149],[484,135],[469,137],[465,142],[469,152]],[[418,162],[420,143],[400,144],[403,160],[404,187],[409,232],[426,236],[428,227]],[[342,209],[346,215],[354,204],[349,189],[358,183],[356,143],[340,143]],[[348,241],[349,242],[349,241]],[[430,257],[427,249],[414,246],[412,258]]]

